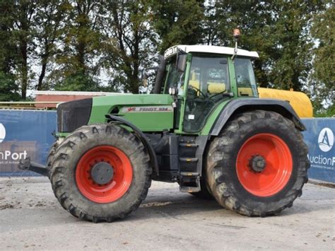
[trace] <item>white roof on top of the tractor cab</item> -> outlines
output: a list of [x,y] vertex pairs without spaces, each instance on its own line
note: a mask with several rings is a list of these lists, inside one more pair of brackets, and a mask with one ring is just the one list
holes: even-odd
[[[182,49],[184,52],[204,52],[204,53],[216,53],[216,54],[234,54],[233,47],[214,46],[214,45],[175,45],[168,48],[164,52],[164,57],[167,59],[172,55],[176,54],[178,49]],[[257,52],[249,52],[245,49],[237,49],[237,56],[259,58]]]

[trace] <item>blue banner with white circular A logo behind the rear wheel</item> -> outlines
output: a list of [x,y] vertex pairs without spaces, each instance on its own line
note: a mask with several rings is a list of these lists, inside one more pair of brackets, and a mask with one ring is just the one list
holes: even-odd
[[335,118],[302,119],[311,179],[335,183]]

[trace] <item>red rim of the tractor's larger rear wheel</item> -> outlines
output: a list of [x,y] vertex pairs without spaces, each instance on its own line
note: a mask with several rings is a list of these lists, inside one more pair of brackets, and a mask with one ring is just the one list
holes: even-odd
[[[266,167],[257,173],[249,163],[261,156]],[[292,155],[286,143],[274,134],[250,137],[237,153],[236,172],[241,185],[251,194],[269,197],[286,186],[293,170]]]

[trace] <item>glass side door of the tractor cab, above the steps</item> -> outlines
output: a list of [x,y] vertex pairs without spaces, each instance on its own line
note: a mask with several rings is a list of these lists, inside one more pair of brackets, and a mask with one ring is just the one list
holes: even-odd
[[199,132],[216,105],[230,98],[228,57],[220,54],[192,54],[184,86],[182,130]]

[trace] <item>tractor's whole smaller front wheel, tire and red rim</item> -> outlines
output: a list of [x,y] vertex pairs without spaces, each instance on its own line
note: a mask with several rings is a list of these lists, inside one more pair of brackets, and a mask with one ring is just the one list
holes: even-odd
[[146,149],[113,124],[84,126],[66,137],[52,161],[51,182],[61,205],[83,220],[124,218],[151,185]]

